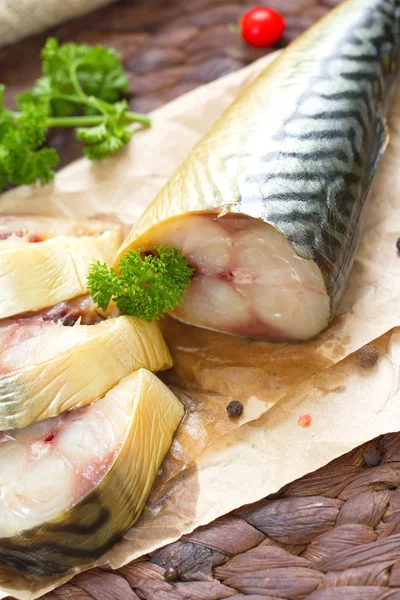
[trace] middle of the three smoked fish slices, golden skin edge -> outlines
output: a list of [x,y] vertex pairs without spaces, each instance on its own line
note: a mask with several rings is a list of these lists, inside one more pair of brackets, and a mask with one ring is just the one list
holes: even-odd
[[134,370],[172,366],[158,324],[120,316],[65,327],[42,318],[0,327],[0,431],[86,406]]

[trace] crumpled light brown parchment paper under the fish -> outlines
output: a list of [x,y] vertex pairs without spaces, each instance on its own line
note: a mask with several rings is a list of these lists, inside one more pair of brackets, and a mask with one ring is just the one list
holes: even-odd
[[[138,132],[118,156],[99,165],[85,159],[72,163],[46,188],[11,190],[2,197],[0,212],[101,215],[131,225],[216,117],[273,58],[158,109],[153,128]],[[121,566],[398,428],[393,398],[400,387],[400,334],[388,332],[400,326],[395,246],[400,235],[400,94],[390,131],[341,315],[326,332],[306,344],[279,345],[172,319],[162,323],[175,359],[163,377],[184,402],[185,421],[140,521],[99,564]],[[377,338],[379,365],[360,372],[349,355]],[[237,421],[225,411],[235,398],[245,406]],[[304,412],[313,417],[308,429],[297,425]],[[0,598],[33,599],[71,576],[32,581],[0,569]]]

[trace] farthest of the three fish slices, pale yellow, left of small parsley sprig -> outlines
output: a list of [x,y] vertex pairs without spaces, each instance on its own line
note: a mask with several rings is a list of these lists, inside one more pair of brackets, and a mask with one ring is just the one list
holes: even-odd
[[0,217],[0,319],[86,294],[90,265],[111,264],[120,243],[113,223]]

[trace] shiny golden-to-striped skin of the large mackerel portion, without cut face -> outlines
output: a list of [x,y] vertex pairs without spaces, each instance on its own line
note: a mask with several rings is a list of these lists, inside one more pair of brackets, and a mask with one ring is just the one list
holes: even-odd
[[348,0],[284,50],[195,146],[123,243],[190,214],[272,225],[318,265],[335,314],[388,143],[399,0]]

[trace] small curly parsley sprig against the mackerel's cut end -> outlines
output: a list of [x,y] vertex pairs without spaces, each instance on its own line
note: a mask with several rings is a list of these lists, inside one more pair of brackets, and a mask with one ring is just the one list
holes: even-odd
[[124,315],[146,321],[160,318],[183,300],[193,269],[179,250],[155,248],[157,256],[142,257],[130,250],[120,259],[118,270],[97,263],[88,275],[88,288],[96,304],[106,310],[115,302]]

